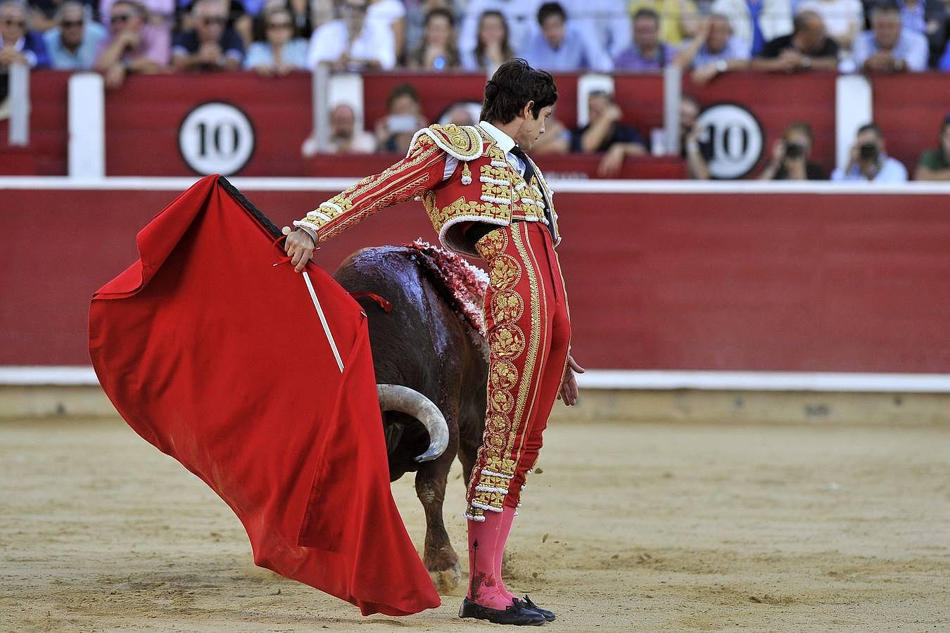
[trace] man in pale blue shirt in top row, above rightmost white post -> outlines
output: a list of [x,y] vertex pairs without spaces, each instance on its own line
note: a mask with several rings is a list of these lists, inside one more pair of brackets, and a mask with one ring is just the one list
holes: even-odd
[[871,9],[871,30],[854,41],[854,63],[867,72],[919,72],[927,67],[927,38],[901,24],[901,9]]

